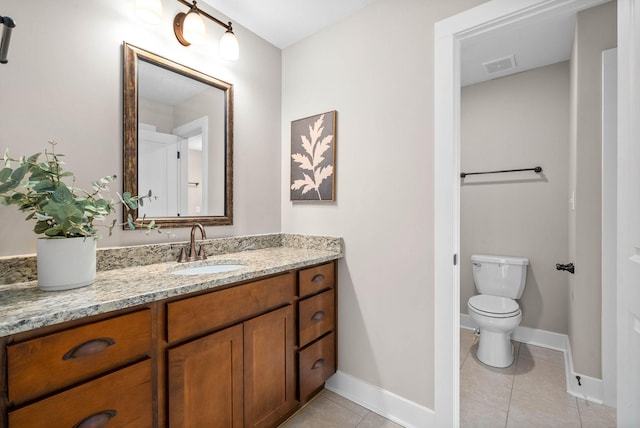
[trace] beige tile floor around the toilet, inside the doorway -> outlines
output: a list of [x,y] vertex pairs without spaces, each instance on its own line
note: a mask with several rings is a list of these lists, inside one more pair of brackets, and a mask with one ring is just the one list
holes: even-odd
[[567,394],[564,354],[513,342],[515,363],[504,369],[478,361],[478,338],[460,330],[461,427],[616,426],[616,411]]

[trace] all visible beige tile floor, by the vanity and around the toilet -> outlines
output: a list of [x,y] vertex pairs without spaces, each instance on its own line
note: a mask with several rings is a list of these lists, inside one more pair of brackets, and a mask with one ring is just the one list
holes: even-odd
[[[460,426],[616,426],[616,411],[566,392],[562,352],[514,342],[511,367],[485,366],[475,357],[478,339],[460,330]],[[324,390],[281,428],[397,428],[395,424],[333,392]]]

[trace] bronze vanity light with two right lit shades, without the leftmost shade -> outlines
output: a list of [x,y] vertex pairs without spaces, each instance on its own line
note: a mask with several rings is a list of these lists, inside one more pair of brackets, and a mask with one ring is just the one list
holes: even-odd
[[202,19],[204,16],[227,30],[220,39],[220,56],[229,61],[238,59],[240,56],[240,48],[238,46],[238,39],[236,39],[236,35],[233,34],[231,22],[225,24],[199,9],[195,0],[193,0],[193,4],[186,0],[178,0],[178,2],[190,8],[186,14],[181,12],[173,19],[173,32],[183,46],[204,44],[206,38],[206,29],[204,20]]

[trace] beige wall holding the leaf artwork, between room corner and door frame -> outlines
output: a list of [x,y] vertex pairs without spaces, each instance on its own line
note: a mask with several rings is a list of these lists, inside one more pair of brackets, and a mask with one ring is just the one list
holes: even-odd
[[433,24],[479,3],[380,0],[283,51],[283,183],[291,121],[338,111],[337,201],[291,203],[282,186],[284,232],[345,240],[338,367],[429,408]]

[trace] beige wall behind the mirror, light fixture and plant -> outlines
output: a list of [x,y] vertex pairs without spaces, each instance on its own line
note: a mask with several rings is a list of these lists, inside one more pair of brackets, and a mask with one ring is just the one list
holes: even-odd
[[[173,17],[186,9],[164,1],[160,25],[134,16],[133,1],[4,0],[16,21],[9,63],[0,65],[0,150],[32,154],[59,142],[78,184],[122,175],[122,42],[233,83],[235,90],[234,225],[208,228],[209,237],[280,230],[281,51],[240,25],[240,60],[218,58],[222,30],[207,26],[208,42],[185,48]],[[214,16],[221,14],[202,5]],[[122,182],[112,189],[121,191]],[[0,256],[35,252],[33,224],[15,207],[0,207]],[[188,239],[175,229],[171,240]],[[166,241],[166,236],[115,231],[98,245]]]

